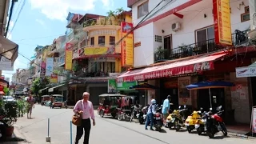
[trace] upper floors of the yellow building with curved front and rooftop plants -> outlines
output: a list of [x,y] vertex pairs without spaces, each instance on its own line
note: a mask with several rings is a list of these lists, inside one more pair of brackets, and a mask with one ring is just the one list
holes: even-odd
[[121,22],[132,22],[131,12],[99,16],[84,22],[82,30],[87,37],[81,42],[84,45],[80,46],[83,53],[80,57],[88,58],[88,71],[104,74],[121,72],[121,45],[116,46],[122,38]]

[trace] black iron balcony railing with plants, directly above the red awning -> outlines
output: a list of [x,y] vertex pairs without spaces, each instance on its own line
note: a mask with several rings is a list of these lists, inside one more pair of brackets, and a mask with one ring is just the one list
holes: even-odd
[[[232,41],[234,46],[248,45],[248,37],[246,31],[235,30],[235,34],[232,34]],[[197,42],[194,44],[179,46],[172,50],[162,49],[158,47],[154,53],[154,62],[162,62],[166,60],[174,60],[178,58],[186,58],[198,54],[207,54],[214,51],[221,50],[222,47],[215,44],[214,39],[207,40],[205,42]]]

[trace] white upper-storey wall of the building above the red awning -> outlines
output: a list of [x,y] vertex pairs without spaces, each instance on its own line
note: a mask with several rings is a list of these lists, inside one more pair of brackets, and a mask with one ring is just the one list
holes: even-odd
[[[156,0],[155,2],[158,3],[158,1],[160,0]],[[138,2],[133,6],[134,17],[137,17],[137,6],[142,2]],[[150,0],[150,7],[154,5],[153,2],[154,0]],[[171,7],[176,7],[178,3],[181,4],[184,2],[185,0],[173,2],[168,8],[170,10]],[[245,6],[248,6],[248,1],[230,0],[232,33],[234,33],[234,30],[247,30],[250,28],[250,21],[241,22],[240,14],[244,13],[245,7],[241,6],[240,10],[238,10],[239,3],[241,2],[244,2]],[[134,43],[141,42],[141,46],[134,48],[134,67],[154,63],[154,50],[157,46],[163,46],[163,37],[166,35],[172,34],[173,49],[182,46],[182,44],[189,45],[195,43],[195,30],[214,25],[212,10],[212,1],[198,2],[197,4],[178,12],[179,14],[184,15],[183,18],[178,18],[172,14],[166,18],[162,18],[162,20],[159,20],[158,22],[151,22],[150,24],[135,30]],[[161,13],[163,13],[163,11],[161,11]],[[206,18],[204,18],[204,14],[206,14]],[[134,22],[135,21],[136,18],[134,19]],[[171,30],[171,24],[174,22],[180,22],[182,25],[182,29],[178,30],[178,32]],[[162,30],[165,32],[162,33]],[[162,36],[162,43],[154,42],[155,34]]]

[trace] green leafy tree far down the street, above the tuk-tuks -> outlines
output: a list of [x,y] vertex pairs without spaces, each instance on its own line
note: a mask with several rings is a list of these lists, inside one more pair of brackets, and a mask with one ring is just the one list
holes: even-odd
[[48,85],[49,83],[50,83],[49,78],[35,78],[34,81],[32,82],[32,86],[30,90],[32,90],[32,92],[35,95],[38,95],[38,91],[45,88],[46,85]]

